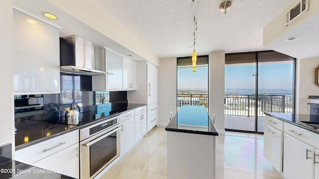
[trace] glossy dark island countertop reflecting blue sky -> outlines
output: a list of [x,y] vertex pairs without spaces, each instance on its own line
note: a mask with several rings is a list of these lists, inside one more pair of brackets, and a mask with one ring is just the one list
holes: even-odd
[[165,131],[218,136],[205,107],[194,105],[181,106]]

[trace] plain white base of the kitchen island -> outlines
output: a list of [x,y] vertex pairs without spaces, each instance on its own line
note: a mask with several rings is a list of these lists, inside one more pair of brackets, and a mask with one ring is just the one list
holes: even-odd
[[215,179],[213,135],[167,131],[167,179]]

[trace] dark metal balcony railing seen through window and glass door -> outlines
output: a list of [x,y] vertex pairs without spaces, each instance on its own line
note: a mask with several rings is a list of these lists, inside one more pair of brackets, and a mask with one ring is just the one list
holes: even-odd
[[[183,105],[201,105],[207,110],[207,94],[177,94],[177,110]],[[265,116],[264,112],[291,113],[293,96],[291,95],[237,95],[225,94],[225,114],[237,116]]]

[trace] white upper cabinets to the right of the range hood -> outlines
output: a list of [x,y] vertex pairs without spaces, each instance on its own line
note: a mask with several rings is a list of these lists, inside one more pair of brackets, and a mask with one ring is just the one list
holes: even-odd
[[136,62],[106,48],[95,49],[95,69],[105,76],[92,76],[94,91],[136,90]]

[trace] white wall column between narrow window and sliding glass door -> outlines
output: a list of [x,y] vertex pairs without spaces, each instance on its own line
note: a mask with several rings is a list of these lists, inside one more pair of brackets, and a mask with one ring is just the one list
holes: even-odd
[[224,95],[225,95],[225,51],[210,52],[209,65],[209,115],[215,113],[215,127],[218,133],[225,134]]

